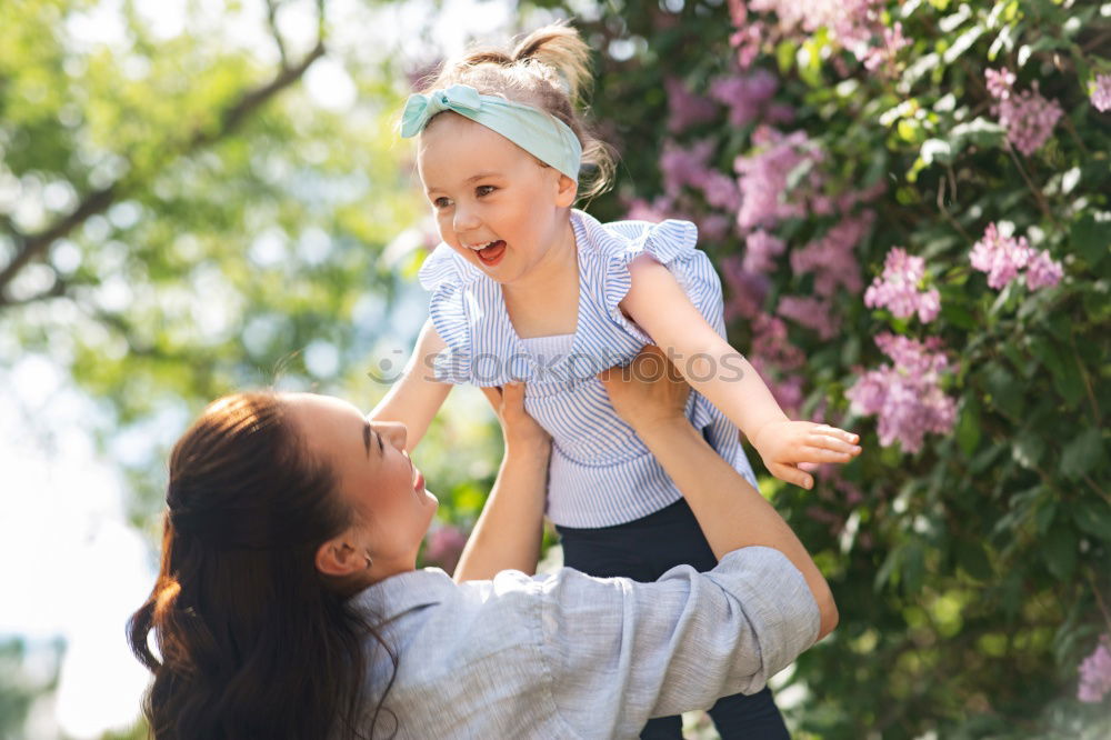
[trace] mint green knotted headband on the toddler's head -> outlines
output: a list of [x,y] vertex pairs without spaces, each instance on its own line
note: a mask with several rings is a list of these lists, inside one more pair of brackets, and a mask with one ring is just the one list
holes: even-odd
[[567,123],[532,106],[481,96],[469,84],[409,96],[401,114],[401,138],[417,136],[433,116],[446,110],[497,131],[541,162],[572,180],[579,179],[582,144]]

